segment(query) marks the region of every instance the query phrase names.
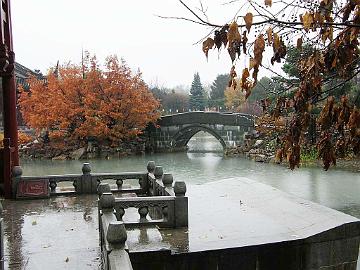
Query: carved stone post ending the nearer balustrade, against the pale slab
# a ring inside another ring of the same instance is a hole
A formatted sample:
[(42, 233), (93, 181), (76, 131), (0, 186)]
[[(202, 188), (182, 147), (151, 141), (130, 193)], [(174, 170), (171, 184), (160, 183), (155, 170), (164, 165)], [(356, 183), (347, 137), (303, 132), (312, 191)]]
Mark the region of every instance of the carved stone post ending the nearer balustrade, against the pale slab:
[(176, 181), (175, 192), (175, 227), (187, 227), (188, 221), (188, 198), (185, 197), (186, 184), (183, 181)]

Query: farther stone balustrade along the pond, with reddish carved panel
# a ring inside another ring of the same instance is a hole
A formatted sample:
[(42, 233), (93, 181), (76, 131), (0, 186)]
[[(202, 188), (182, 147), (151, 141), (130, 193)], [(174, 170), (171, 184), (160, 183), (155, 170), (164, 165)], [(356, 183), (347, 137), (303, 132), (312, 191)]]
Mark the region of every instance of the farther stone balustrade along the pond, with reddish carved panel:
[[(150, 161), (147, 172), (122, 172), (122, 173), (91, 173), (89, 163), (82, 166), (82, 174), (23, 176), (22, 169), (15, 166), (12, 171), (13, 192), (16, 198), (49, 197), (67, 194), (96, 194), (100, 183), (109, 183), (112, 193), (135, 193), (137, 196), (179, 196), (186, 192), (185, 184), (175, 183), (173, 176), (164, 173), (161, 166), (156, 166)], [(138, 186), (132, 186), (133, 181), (138, 181)], [(124, 184), (128, 181), (129, 184)], [(59, 183), (63, 184), (59, 188)], [(175, 192), (175, 187), (176, 192)], [(185, 188), (185, 190), (183, 190)]]

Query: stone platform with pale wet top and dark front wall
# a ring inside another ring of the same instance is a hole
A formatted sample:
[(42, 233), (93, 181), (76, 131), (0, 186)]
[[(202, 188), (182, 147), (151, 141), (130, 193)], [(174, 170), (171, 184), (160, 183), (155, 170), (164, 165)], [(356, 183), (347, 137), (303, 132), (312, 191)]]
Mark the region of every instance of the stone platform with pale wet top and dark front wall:
[(246, 178), (187, 195), (188, 229), (128, 232), (134, 269), (356, 269), (352, 216)]

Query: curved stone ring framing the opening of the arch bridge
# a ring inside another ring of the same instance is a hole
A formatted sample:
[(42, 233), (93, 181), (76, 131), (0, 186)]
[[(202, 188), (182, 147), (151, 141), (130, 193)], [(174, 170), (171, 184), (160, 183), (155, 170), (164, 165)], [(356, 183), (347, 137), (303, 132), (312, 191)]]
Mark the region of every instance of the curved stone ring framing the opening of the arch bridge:
[(187, 126), (180, 131), (178, 131), (177, 134), (173, 137), (171, 141), (171, 146), (175, 148), (185, 148), (190, 140), (196, 135), (196, 134), (209, 134), (212, 137), (214, 137), (219, 144), (222, 146), (222, 149), (226, 149), (226, 143), (224, 139), (213, 129), (208, 128), (206, 126), (201, 125), (192, 125)]

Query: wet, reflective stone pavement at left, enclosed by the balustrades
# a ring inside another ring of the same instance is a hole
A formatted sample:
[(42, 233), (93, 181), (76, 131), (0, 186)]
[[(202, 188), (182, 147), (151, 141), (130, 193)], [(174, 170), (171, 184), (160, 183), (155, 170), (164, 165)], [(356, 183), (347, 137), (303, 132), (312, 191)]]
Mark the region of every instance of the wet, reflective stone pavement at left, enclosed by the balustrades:
[(96, 200), (3, 201), (5, 269), (101, 269)]

